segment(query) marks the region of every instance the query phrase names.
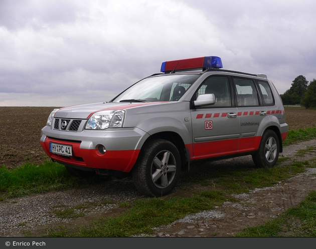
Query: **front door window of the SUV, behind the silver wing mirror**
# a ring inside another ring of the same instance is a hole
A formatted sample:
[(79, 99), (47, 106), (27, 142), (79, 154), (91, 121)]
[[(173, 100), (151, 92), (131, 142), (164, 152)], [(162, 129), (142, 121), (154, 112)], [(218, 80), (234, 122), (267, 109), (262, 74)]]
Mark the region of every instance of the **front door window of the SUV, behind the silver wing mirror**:
[(201, 94), (215, 95), (216, 103), (210, 107), (231, 106), (231, 97), (228, 78), (224, 76), (215, 76), (206, 79), (200, 86), (197, 96)]

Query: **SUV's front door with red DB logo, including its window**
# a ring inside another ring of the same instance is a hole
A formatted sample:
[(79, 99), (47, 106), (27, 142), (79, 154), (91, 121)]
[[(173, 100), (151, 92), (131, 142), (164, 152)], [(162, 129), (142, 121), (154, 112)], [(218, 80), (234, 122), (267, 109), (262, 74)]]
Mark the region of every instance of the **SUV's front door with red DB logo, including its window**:
[(233, 90), (226, 76), (210, 76), (198, 89), (213, 93), (214, 105), (191, 110), (194, 159), (235, 154), (238, 151), (238, 109), (232, 101)]

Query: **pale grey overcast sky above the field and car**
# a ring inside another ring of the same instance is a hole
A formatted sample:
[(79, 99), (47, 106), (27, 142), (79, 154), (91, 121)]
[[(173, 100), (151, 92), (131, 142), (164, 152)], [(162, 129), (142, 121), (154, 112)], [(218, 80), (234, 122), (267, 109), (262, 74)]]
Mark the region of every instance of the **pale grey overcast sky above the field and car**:
[(108, 101), (203, 56), (282, 94), (316, 78), (315, 13), (314, 0), (0, 0), (0, 106)]

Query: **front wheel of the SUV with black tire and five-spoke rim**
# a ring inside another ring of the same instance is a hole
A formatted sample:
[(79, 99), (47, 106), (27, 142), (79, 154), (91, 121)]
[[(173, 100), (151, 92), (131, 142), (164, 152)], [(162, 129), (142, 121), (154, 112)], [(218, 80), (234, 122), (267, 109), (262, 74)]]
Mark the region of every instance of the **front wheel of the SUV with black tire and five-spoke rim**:
[(133, 168), (137, 190), (148, 196), (163, 196), (176, 186), (181, 171), (177, 147), (165, 139), (151, 140), (144, 145)]

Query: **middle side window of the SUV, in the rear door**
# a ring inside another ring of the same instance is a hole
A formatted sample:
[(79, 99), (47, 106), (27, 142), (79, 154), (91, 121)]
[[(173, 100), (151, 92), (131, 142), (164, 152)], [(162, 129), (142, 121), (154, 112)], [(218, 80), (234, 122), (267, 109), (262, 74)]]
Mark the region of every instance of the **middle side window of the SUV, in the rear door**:
[(252, 80), (234, 78), (234, 84), (238, 106), (259, 105), (257, 90)]

